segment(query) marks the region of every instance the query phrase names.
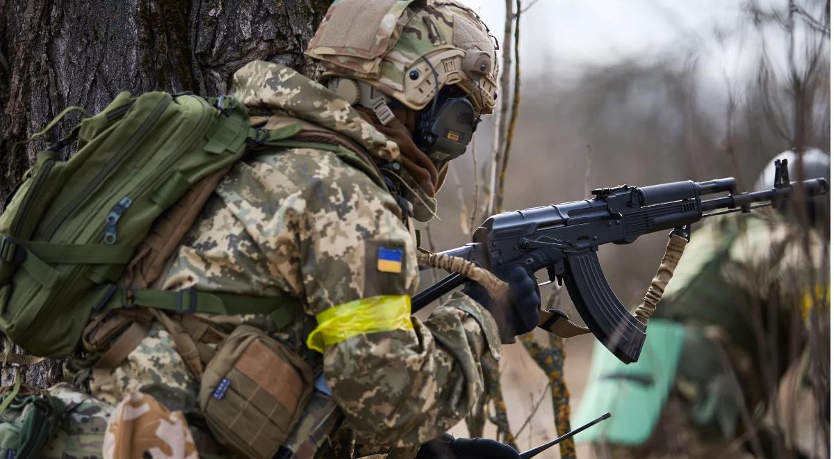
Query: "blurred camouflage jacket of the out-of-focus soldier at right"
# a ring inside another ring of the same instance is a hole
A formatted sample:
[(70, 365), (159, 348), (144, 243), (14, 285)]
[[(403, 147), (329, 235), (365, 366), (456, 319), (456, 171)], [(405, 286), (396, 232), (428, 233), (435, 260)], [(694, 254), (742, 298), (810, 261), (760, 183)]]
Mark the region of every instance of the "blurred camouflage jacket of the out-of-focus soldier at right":
[(655, 316), (691, 325), (677, 386), (702, 426), (731, 435), (739, 419), (725, 361), (752, 410), (820, 333), (828, 260), (821, 235), (776, 211), (711, 220), (695, 232)]

